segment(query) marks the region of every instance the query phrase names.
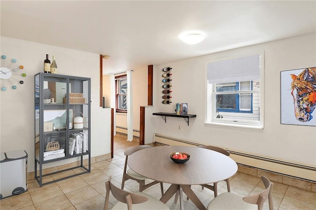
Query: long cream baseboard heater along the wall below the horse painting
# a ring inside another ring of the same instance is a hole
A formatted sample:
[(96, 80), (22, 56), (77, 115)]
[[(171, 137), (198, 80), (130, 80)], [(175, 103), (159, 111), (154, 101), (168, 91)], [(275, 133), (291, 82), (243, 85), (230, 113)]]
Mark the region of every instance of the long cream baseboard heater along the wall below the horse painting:
[[(175, 139), (171, 137), (162, 136), (159, 134), (154, 135), (153, 142), (162, 143), (165, 145), (187, 145), (198, 146), (201, 145), (196, 142), (190, 142), (186, 140)], [(236, 161), (236, 163), (249, 166), (268, 172), (276, 173), (279, 175), (287, 175), (295, 178), (316, 182), (316, 168), (311, 166), (305, 166), (295, 163), (290, 163), (281, 160), (275, 160), (267, 157), (260, 157), (252, 154), (246, 154), (238, 151), (227, 149), (231, 155), (230, 157)]]

